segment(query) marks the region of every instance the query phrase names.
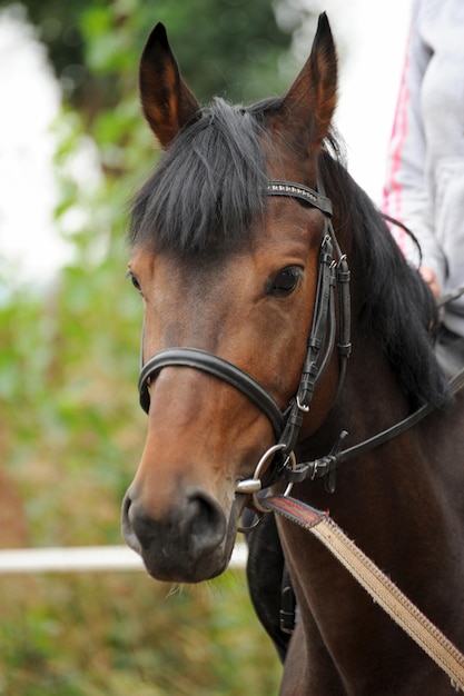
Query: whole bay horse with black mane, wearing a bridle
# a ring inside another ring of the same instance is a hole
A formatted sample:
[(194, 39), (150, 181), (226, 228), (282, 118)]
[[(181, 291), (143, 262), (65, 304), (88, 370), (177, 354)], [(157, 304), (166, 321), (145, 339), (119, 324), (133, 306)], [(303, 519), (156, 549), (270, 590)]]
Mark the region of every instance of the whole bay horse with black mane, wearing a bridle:
[[(227, 568), (253, 485), (283, 491), (282, 473), (339, 448), (340, 432), (356, 445), (427, 404), (417, 425), (362, 450), (336, 479), (297, 483), (293, 496), (329, 508), (464, 648), (463, 398), (435, 358), (427, 287), (343, 162), (326, 16), (284, 97), (200, 108), (161, 24), (139, 79), (165, 152), (129, 232), (148, 436), (122, 504), (127, 543), (155, 578), (213, 578)], [(298, 612), (280, 645), (282, 694), (452, 690), (317, 539), (268, 515), (251, 533), (248, 573), (261, 617), (284, 558)]]

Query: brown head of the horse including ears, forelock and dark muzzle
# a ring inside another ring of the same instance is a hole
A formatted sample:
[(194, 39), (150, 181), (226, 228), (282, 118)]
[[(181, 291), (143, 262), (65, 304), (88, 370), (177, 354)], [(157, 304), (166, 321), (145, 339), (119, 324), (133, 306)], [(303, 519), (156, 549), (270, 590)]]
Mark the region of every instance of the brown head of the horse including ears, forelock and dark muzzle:
[[(300, 384), (327, 217), (269, 191), (269, 180), (314, 193), (336, 72), (325, 14), (286, 96), (248, 108), (200, 109), (161, 24), (144, 50), (142, 109), (165, 152), (132, 215), (148, 436), (122, 528), (158, 579), (199, 581), (227, 567), (237, 488), (282, 435), (279, 414)], [(327, 362), (302, 410), (305, 435), (335, 398), (338, 361)]]

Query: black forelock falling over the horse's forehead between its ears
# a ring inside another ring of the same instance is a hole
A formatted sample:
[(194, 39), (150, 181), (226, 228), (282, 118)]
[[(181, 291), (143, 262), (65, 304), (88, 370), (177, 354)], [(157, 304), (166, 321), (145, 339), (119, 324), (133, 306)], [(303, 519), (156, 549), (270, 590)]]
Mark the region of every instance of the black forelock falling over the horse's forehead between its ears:
[(195, 253), (236, 248), (266, 205), (259, 119), (215, 99), (168, 150), (132, 206), (129, 241)]

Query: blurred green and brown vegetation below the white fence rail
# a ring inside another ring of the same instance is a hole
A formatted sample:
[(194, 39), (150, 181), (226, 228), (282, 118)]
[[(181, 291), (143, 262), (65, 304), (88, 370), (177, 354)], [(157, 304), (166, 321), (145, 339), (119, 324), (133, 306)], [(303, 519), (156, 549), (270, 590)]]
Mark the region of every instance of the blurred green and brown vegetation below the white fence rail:
[(272, 696), (282, 668), (243, 574), (1, 578), (1, 696)]

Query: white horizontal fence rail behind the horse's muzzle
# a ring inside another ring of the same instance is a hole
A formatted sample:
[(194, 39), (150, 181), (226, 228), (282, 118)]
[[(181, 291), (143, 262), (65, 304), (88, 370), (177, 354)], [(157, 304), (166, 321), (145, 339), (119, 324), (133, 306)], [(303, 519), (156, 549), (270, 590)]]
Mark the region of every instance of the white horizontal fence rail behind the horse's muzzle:
[[(245, 544), (238, 544), (229, 568), (244, 568)], [(127, 546), (75, 546), (0, 550), (0, 575), (145, 570), (140, 556)]]

